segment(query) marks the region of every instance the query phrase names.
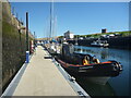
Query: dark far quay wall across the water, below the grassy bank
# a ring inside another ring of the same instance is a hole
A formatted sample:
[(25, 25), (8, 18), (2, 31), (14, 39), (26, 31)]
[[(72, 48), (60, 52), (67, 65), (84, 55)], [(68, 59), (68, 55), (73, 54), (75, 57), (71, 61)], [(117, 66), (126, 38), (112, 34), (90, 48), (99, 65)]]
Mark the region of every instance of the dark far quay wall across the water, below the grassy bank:
[[(97, 38), (78, 40), (78, 44), (79, 46), (91, 47), (91, 42), (93, 42), (94, 40), (97, 40)], [(102, 38), (102, 40), (107, 40), (109, 44), (109, 48), (131, 49), (131, 36), (116, 37), (116, 38)], [(70, 44), (75, 44), (75, 40), (68, 40), (68, 41)]]

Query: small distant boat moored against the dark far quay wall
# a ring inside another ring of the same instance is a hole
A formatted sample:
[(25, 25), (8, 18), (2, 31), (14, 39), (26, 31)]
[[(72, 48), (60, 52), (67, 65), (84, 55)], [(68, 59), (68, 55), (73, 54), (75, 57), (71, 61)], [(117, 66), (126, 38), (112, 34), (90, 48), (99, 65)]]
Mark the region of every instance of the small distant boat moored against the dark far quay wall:
[(107, 42), (107, 40), (95, 40), (93, 42), (91, 42), (91, 46), (94, 46), (94, 47), (108, 47), (109, 44)]

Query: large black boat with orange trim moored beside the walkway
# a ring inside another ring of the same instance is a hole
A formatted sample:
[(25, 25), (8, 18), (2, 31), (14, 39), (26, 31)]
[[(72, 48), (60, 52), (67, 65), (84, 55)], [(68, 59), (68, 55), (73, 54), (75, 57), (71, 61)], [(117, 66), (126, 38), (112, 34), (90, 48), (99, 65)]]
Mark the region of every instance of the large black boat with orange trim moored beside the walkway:
[[(83, 64), (84, 57), (88, 57), (88, 64)], [(117, 61), (93, 62), (91, 54), (75, 53), (73, 45), (64, 44), (61, 53), (56, 60), (63, 69), (73, 76), (83, 76), (87, 79), (106, 84), (110, 77), (118, 76), (122, 71), (122, 65)]]

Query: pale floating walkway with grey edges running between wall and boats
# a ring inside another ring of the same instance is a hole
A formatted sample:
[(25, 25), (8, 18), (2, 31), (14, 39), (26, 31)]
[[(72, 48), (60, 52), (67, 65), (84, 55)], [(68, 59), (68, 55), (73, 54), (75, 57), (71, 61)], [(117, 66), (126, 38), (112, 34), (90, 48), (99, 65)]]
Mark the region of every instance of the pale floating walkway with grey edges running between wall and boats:
[[(73, 89), (56, 68), (48, 52), (38, 46), (29, 63), (23, 65), (3, 96), (79, 96), (82, 94)], [(84, 96), (88, 95), (85, 93)]]

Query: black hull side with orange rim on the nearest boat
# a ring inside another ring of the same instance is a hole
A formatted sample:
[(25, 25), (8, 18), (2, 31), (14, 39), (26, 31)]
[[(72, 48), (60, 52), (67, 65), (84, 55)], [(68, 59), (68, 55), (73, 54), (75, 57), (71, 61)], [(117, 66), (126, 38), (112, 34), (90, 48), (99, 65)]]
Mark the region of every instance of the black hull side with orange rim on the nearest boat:
[(120, 66), (115, 63), (104, 62), (99, 64), (90, 64), (90, 65), (74, 65), (66, 63), (62, 60), (58, 60), (58, 62), (71, 74), (75, 76), (100, 76), (100, 77), (114, 77), (120, 74)]

